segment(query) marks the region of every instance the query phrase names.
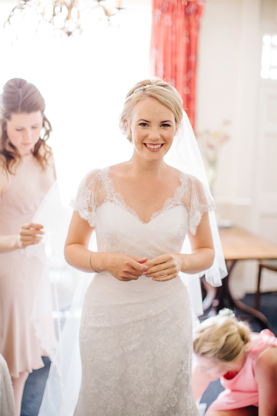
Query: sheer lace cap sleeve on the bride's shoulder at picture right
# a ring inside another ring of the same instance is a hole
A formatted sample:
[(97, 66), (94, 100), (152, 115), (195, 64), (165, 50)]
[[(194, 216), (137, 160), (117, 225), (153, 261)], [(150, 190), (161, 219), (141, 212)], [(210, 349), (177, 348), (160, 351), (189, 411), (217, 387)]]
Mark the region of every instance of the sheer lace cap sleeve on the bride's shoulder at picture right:
[(197, 178), (185, 175), (184, 188), (186, 192), (186, 207), (189, 212), (189, 231), (192, 235), (196, 234), (197, 227), (204, 212), (216, 210), (213, 197), (210, 192)]

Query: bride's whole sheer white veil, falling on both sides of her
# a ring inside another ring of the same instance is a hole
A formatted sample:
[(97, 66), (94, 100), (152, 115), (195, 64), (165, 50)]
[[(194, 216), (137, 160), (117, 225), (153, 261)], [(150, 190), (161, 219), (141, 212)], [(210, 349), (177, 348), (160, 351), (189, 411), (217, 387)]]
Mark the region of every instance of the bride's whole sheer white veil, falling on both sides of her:
[[(198, 178), (211, 197), (199, 148), (185, 112), (165, 161), (180, 171)], [(64, 260), (64, 243), (71, 213), (69, 208), (64, 208), (62, 205), (59, 187), (55, 183), (33, 220), (44, 224), (45, 237), (42, 244), (45, 247), (47, 261), (41, 276), (40, 290), (34, 302), (32, 322), (37, 336), (42, 340), (44, 349), (49, 351), (52, 361), (39, 416), (72, 416), (81, 386), (78, 332), (83, 297), (93, 274), (80, 272)], [(181, 273), (181, 278), (189, 289), (191, 306), (196, 316), (203, 314), (199, 277), (205, 274), (208, 283), (220, 286), (221, 278), (227, 275), (214, 211), (209, 212), (209, 220), (215, 248), (213, 265), (208, 270), (195, 275)], [(92, 235), (90, 248), (92, 251), (97, 251), (95, 233)], [(186, 238), (182, 253), (190, 253), (190, 251), (190, 243)], [(41, 250), (37, 250), (35, 246), (28, 251), (29, 256), (39, 256), (39, 253)], [(43, 295), (50, 292), (51, 299)], [(48, 345), (47, 328), (44, 325), (49, 315), (55, 322), (57, 337), (55, 349), (52, 344)]]

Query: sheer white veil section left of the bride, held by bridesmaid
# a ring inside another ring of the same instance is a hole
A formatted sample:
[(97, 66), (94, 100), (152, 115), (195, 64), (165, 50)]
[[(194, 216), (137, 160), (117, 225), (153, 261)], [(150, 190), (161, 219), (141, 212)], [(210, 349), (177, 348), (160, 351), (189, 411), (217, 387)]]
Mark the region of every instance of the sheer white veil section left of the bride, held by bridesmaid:
[[(27, 248), (28, 257), (46, 253), (39, 290), (34, 301), (31, 321), (37, 337), (49, 353), (51, 367), (39, 415), (72, 415), (81, 386), (81, 358), (78, 332), (83, 297), (93, 275), (69, 266), (64, 259), (72, 210), (60, 199), (57, 181), (42, 201), (33, 221), (44, 225), (45, 235), (39, 246)], [(95, 236), (90, 248), (97, 251)], [(52, 317), (56, 330), (56, 348), (50, 341), (45, 322)]]

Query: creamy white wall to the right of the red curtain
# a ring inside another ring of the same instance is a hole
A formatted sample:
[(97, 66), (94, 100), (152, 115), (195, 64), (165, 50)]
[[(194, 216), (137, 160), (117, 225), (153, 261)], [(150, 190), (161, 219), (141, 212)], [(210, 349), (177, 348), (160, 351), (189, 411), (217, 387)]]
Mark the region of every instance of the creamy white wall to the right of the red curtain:
[[(232, 122), (231, 139), (219, 156), (218, 216), (231, 218), (235, 225), (277, 244), (274, 218), (267, 218), (265, 224), (254, 215), (259, 198), (255, 172), (260, 163), (262, 33), (265, 27), (276, 27), (276, 4), (276, 0), (206, 0), (199, 42), (196, 131), (216, 130), (224, 120)], [(232, 278), (236, 295), (254, 291), (256, 275), (256, 262), (236, 265)], [(267, 277), (263, 290), (277, 290), (276, 276)]]

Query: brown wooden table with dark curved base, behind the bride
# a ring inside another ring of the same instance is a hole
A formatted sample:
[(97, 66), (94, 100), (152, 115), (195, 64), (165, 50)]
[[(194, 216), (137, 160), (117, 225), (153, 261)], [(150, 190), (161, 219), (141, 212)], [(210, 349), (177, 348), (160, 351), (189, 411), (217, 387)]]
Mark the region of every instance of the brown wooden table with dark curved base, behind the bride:
[(261, 312), (245, 305), (243, 302), (232, 296), (229, 289), (229, 279), (233, 267), (238, 260), (276, 259), (277, 245), (236, 227), (220, 228), (219, 235), (226, 260), (228, 275), (222, 280), (221, 287), (210, 288), (210, 291), (212, 292), (210, 294), (207, 285), (204, 283), (204, 286), (208, 289), (207, 300), (209, 299), (209, 302), (205, 303), (205, 300), (203, 301), (204, 310), (207, 310), (211, 305), (216, 309), (216, 312), (223, 307), (233, 308), (234, 306), (237, 306), (240, 310), (256, 317), (262, 328), (268, 328), (269, 323)]

